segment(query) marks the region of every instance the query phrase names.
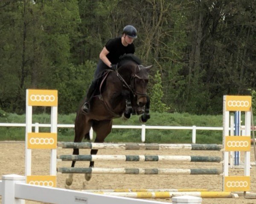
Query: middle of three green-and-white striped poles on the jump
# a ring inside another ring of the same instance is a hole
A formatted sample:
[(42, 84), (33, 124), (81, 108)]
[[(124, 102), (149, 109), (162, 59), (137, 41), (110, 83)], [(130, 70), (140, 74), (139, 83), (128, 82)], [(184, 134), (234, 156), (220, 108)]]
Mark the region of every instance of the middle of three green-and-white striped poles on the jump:
[(62, 161), (189, 161), (221, 162), (218, 156), (158, 156), (158, 155), (61, 155)]

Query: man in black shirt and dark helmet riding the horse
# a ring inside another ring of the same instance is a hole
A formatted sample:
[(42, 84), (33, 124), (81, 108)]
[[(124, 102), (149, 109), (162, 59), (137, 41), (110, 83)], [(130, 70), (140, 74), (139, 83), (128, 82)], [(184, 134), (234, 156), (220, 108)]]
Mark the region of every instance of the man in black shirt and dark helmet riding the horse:
[(123, 54), (134, 54), (135, 47), (133, 44), (134, 39), (137, 38), (137, 30), (134, 26), (125, 26), (121, 37), (110, 39), (105, 47), (99, 54), (99, 62), (97, 64), (96, 71), (94, 73), (93, 82), (87, 92), (87, 99), (82, 106), (82, 111), (88, 113), (90, 111), (90, 100), (97, 88), (98, 79), (106, 69), (116, 69), (116, 64), (119, 61), (119, 57)]

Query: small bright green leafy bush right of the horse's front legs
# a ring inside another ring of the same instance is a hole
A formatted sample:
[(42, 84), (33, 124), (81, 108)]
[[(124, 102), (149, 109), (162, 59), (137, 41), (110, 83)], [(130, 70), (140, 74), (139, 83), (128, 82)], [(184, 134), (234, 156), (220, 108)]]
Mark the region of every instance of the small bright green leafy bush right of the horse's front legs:
[(161, 84), (162, 79), (159, 71), (157, 71), (157, 74), (154, 75), (154, 81), (155, 84), (153, 85), (150, 97), (151, 111), (163, 113), (170, 108), (166, 107), (166, 104), (161, 101), (163, 98), (163, 86)]

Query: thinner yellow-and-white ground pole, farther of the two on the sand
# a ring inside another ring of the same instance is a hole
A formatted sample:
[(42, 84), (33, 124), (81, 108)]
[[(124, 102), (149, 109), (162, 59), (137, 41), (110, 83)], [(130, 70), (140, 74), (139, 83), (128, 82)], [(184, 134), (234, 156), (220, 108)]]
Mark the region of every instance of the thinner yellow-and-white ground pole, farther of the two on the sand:
[(111, 192), (195, 192), (195, 191), (208, 191), (208, 189), (95, 189), (95, 190), (82, 190), (88, 193), (111, 193)]

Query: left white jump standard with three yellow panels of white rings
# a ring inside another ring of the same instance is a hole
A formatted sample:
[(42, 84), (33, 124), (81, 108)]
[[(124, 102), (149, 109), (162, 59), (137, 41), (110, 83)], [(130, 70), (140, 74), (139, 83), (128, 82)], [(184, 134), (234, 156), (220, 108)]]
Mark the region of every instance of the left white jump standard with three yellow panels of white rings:
[[(32, 107), (51, 107), (50, 133), (32, 133)], [(26, 165), (25, 176), (28, 184), (42, 184), (56, 187), (56, 157), (57, 157), (57, 116), (58, 116), (58, 91), (57, 90), (26, 90)], [(50, 176), (31, 175), (32, 149), (50, 149)]]

